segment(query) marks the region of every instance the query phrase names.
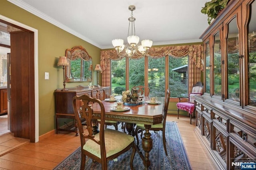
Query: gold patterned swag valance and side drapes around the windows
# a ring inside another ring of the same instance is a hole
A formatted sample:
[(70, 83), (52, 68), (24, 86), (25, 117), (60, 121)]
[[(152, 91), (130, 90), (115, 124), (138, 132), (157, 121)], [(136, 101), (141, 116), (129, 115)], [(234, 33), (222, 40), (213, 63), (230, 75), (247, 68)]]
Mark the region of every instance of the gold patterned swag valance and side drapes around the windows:
[[(201, 59), (203, 58), (203, 46), (198, 45), (180, 45), (180, 46), (166, 46), (166, 47), (151, 47), (146, 54), (152, 58), (160, 58), (166, 55), (174, 57), (189, 57), (189, 77), (190, 83), (188, 90), (192, 90), (192, 86), (201, 80), (200, 71), (203, 71)], [(123, 58), (123, 57), (122, 57)], [(115, 49), (103, 50), (100, 52), (100, 67), (102, 68), (102, 86), (110, 86), (110, 59), (120, 60)], [(138, 56), (134, 56), (134, 59)]]

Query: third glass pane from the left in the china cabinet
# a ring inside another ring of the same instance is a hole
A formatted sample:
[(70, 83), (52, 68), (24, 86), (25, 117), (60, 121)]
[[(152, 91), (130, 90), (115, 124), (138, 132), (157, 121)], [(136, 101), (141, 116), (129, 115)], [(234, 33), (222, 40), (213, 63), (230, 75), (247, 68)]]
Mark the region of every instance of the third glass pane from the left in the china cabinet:
[(239, 33), (236, 17), (228, 24), (227, 38), (227, 71), (228, 71), (228, 99), (240, 101), (240, 71), (239, 71)]

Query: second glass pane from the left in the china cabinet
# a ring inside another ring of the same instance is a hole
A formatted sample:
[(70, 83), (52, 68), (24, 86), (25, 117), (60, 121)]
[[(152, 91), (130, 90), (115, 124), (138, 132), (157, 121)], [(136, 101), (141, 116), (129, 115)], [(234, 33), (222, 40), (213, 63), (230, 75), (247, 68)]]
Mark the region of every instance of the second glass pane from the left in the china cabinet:
[(214, 66), (214, 94), (216, 96), (221, 96), (221, 45), (220, 45), (220, 32), (214, 35), (214, 56), (213, 56), (213, 66)]

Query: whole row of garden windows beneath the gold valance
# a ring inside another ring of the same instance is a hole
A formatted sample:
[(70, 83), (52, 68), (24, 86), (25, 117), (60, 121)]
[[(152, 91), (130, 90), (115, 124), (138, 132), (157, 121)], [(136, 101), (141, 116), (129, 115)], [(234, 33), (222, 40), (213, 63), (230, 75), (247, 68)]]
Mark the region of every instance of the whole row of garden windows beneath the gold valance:
[[(140, 59), (124, 57), (119, 61), (111, 60), (112, 94), (120, 95), (126, 87), (130, 90), (134, 86), (145, 85), (150, 89), (150, 97), (164, 97), (166, 86), (172, 89), (171, 97), (188, 97), (188, 58), (188, 56)], [(126, 64), (127, 61), (129, 64)], [(126, 65), (129, 65), (129, 68)], [(126, 71), (129, 71), (129, 74)], [(166, 75), (167, 71), (168, 75)], [(126, 80), (127, 76), (129, 80)], [(129, 86), (126, 82), (129, 82)]]

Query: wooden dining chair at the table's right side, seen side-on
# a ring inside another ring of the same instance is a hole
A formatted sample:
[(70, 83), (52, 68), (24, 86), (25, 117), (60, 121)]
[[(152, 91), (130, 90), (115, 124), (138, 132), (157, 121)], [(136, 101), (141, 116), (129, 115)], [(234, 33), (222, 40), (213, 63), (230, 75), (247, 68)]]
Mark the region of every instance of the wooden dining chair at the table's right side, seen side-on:
[[(163, 104), (163, 109), (162, 109), (163, 120), (162, 120), (161, 123), (158, 123), (156, 125), (152, 125), (150, 127), (150, 130), (154, 130), (154, 131), (162, 130), (164, 152), (165, 152), (166, 156), (168, 154), (167, 154), (167, 149), (166, 149), (165, 123), (166, 123), (166, 116), (167, 116), (169, 101), (170, 101), (170, 91), (169, 91), (169, 89), (167, 89), (166, 97), (164, 99), (164, 104)], [(141, 132), (141, 137), (142, 137), (143, 130), (145, 130), (144, 124), (137, 123), (136, 124), (136, 129), (135, 129), (135, 136), (136, 136), (136, 139), (137, 139), (137, 145), (139, 144), (138, 133)]]

